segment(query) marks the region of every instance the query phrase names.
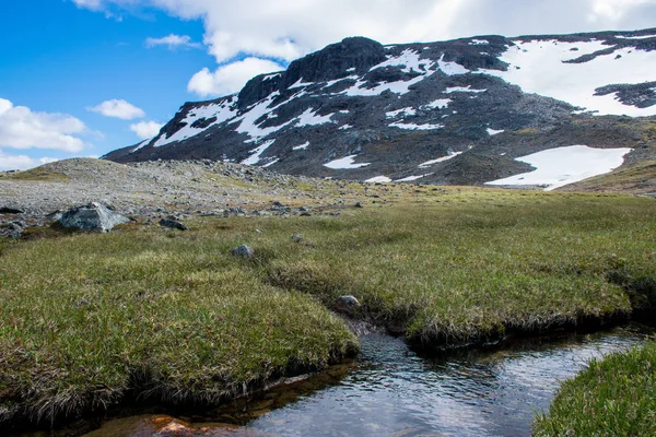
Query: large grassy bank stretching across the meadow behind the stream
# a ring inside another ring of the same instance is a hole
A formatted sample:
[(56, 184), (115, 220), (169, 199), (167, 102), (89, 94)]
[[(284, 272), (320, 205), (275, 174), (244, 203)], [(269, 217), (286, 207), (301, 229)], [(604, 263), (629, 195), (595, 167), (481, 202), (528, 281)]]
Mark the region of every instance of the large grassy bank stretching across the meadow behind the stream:
[[(646, 305), (633, 294), (656, 277), (651, 199), (379, 192), (339, 217), (208, 217), (186, 233), (139, 225), (9, 245), (0, 421), (128, 394), (216, 402), (321, 368), (356, 347), (328, 310), (343, 294), (362, 303), (355, 317), (426, 345)], [(229, 255), (241, 244), (255, 260)]]

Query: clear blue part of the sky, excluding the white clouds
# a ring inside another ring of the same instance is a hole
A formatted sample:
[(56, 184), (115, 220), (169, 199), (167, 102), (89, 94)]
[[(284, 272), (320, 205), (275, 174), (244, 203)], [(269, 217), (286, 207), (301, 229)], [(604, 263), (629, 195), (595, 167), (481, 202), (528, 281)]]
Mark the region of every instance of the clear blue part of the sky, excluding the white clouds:
[[(0, 98), (32, 111), (71, 115), (87, 128), (80, 135), (86, 143), (81, 152), (44, 153), (33, 147), (20, 154), (34, 158), (102, 155), (140, 141), (130, 130), (132, 123), (165, 122), (184, 102), (198, 99), (187, 91), (187, 82), (215, 61), (202, 47), (147, 47), (147, 38), (169, 34), (188, 35), (200, 43), (202, 23), (155, 10), (107, 17), (61, 0), (3, 4)], [(87, 109), (109, 99), (125, 99), (145, 116), (124, 120)], [(7, 147), (0, 149), (8, 154)]]

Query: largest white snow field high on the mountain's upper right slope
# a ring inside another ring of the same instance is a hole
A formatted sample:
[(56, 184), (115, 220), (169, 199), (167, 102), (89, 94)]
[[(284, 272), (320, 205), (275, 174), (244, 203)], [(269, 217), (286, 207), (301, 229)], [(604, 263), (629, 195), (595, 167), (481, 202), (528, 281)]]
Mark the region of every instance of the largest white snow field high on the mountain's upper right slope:
[[(624, 105), (616, 94), (596, 96), (595, 90), (614, 83), (656, 81), (656, 50), (634, 47), (618, 48), (612, 54), (582, 62), (565, 62), (573, 58), (608, 49), (600, 40), (562, 43), (558, 40), (514, 42), (515, 46), (500, 57), (509, 64), (507, 71), (479, 70), (477, 73), (501, 78), (518, 85), (525, 93), (540, 94), (573, 106), (596, 110), (596, 115), (656, 115), (656, 105), (647, 108)], [(576, 51), (572, 49), (576, 48)], [(618, 57), (619, 56), (619, 57)]]

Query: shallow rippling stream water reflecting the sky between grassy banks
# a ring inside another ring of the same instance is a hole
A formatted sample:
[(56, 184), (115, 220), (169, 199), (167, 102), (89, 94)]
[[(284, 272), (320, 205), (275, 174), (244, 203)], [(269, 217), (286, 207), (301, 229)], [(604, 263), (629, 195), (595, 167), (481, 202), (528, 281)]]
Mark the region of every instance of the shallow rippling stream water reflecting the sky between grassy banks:
[(387, 335), (365, 335), (351, 366), (215, 412), (214, 422), (229, 417), (244, 426), (227, 432), (195, 420), (186, 429), (233, 436), (528, 436), (535, 412), (548, 409), (559, 381), (646, 333), (629, 326), (443, 358), (420, 357)]

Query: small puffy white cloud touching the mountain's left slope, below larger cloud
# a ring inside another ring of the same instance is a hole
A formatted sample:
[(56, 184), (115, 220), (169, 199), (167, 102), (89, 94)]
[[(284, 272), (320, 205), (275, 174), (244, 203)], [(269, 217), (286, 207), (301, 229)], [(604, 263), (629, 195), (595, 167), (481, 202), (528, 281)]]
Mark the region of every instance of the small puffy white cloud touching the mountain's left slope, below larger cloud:
[(194, 74), (187, 90), (201, 97), (232, 94), (239, 91), (255, 75), (281, 70), (284, 70), (284, 67), (273, 61), (246, 58), (220, 67), (214, 72), (203, 68)]

